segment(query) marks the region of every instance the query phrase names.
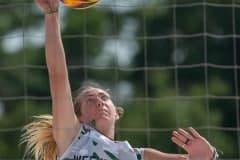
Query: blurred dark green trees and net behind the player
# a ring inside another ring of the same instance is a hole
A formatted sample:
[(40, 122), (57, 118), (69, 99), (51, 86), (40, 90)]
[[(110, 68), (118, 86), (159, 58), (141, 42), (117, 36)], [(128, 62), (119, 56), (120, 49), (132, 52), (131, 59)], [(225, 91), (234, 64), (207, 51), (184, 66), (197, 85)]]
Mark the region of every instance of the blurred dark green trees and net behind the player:
[[(240, 0), (100, 0), (60, 12), (72, 91), (110, 89), (125, 109), (116, 139), (184, 153), (171, 132), (192, 126), (221, 159), (240, 159)], [(0, 0), (0, 159), (21, 159), (21, 128), (50, 113), (44, 16), (33, 0)]]

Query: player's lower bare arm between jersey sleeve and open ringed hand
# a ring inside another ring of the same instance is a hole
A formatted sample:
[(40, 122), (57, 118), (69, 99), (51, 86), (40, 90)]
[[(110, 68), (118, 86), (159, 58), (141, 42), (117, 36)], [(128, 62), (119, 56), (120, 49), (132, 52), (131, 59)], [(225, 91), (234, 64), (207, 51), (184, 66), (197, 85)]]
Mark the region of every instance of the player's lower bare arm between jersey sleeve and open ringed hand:
[(163, 153), (152, 148), (144, 148), (144, 160), (187, 160), (186, 154)]

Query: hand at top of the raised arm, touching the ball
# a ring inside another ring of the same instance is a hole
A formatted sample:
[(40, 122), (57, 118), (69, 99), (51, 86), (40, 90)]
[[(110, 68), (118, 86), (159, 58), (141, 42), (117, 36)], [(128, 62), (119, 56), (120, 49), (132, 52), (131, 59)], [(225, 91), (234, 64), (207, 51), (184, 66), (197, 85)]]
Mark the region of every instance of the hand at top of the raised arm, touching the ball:
[(35, 0), (35, 2), (45, 14), (50, 14), (58, 11), (59, 0)]

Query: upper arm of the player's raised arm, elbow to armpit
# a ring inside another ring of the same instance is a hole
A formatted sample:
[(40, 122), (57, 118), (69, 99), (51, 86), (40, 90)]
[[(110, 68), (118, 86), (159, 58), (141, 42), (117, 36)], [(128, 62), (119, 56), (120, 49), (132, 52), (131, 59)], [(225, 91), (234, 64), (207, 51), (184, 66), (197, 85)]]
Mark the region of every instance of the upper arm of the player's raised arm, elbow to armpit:
[(53, 135), (61, 155), (76, 136), (80, 123), (75, 115), (68, 78), (49, 75), (52, 95)]

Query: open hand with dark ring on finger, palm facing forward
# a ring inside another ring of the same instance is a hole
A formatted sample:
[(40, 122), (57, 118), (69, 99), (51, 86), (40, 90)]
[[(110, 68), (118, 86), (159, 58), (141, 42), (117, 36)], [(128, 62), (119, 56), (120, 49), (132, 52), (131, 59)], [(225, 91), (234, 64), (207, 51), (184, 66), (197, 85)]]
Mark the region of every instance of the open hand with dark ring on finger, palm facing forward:
[(213, 157), (214, 148), (192, 127), (189, 131), (173, 131), (171, 139), (189, 154), (191, 160), (211, 160)]

